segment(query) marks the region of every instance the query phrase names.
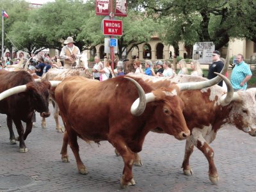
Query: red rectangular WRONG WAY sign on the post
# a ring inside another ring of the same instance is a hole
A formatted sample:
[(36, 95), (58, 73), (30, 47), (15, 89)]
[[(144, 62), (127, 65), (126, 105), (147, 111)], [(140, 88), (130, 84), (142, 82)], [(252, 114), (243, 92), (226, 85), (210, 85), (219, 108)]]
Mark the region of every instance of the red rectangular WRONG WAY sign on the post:
[(122, 20), (103, 20), (104, 35), (123, 35)]

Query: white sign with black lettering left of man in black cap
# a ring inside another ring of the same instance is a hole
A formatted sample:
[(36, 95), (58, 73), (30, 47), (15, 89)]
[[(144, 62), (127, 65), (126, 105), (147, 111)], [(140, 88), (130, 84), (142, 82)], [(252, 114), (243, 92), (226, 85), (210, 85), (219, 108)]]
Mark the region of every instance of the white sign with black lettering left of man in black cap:
[(213, 42), (196, 42), (193, 46), (193, 60), (198, 60), (200, 64), (211, 64), (214, 50)]

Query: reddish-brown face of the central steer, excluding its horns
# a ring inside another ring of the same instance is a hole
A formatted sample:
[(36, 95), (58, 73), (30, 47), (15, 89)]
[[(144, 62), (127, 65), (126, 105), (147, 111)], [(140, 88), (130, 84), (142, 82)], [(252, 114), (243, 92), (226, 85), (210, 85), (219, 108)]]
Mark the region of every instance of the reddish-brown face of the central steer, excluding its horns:
[(178, 140), (188, 138), (190, 131), (182, 114), (184, 103), (177, 96), (177, 90), (161, 88), (152, 93), (156, 97), (154, 116), (157, 118), (158, 127)]

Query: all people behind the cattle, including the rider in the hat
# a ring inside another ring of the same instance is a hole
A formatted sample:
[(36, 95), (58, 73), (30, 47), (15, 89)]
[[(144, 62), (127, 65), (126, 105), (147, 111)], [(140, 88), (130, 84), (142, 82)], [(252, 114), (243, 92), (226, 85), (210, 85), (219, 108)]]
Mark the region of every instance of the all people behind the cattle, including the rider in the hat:
[[(52, 57), (50, 58), (49, 54), (45, 54), (44, 56), (35, 56), (29, 60), (28, 71), (31, 74), (36, 74), (37, 76), (42, 76), (45, 74), (50, 68), (54, 67), (64, 67), (71, 68), (74, 66), (76, 59), (81, 56), (81, 53), (74, 45), (74, 40), (72, 37), (68, 37), (67, 40), (64, 41), (65, 46), (61, 50), (60, 57)], [(26, 59), (24, 59), (26, 61)], [(138, 57), (135, 60), (123, 60), (119, 61), (119, 58), (115, 58), (116, 68), (112, 70), (111, 63), (106, 56), (104, 61), (100, 61), (99, 56), (95, 56), (94, 58), (95, 64), (92, 68), (93, 79), (97, 79), (99, 81), (105, 81), (106, 79), (123, 76), (128, 74), (129, 72), (134, 72), (136, 74), (146, 74), (148, 76), (160, 76), (160, 77), (174, 77), (176, 75), (175, 68), (173, 64), (170, 63), (169, 60), (158, 60), (155, 63), (152, 63), (150, 60), (145, 60), (145, 63), (141, 63)], [(0, 69), (11, 66), (13, 64), (17, 64), (20, 62), (20, 58), (16, 61), (10, 60), (10, 58), (1, 58), (0, 60)], [(209, 72), (207, 79), (212, 79), (217, 75), (214, 72), (220, 73), (224, 66), (224, 59), (220, 57), (219, 51), (212, 52), (212, 64), (209, 65)], [(143, 66), (144, 65), (144, 66)], [(200, 63), (198, 60), (192, 60), (190, 63), (190, 70), (187, 66), (187, 62), (185, 60), (180, 60), (178, 63), (179, 72), (178, 75), (191, 75), (191, 76), (204, 76), (203, 70), (200, 67)], [(144, 69), (145, 68), (145, 69)], [(156, 68), (156, 70), (154, 70)], [(228, 74), (226, 74), (228, 77)], [(237, 90), (246, 90), (247, 82), (252, 77), (252, 72), (248, 65), (244, 63), (243, 54), (237, 54), (236, 56), (236, 65), (232, 70), (232, 74), (230, 76), (230, 82), (235, 91)], [(225, 86), (225, 83), (221, 81), (218, 83), (219, 86)]]

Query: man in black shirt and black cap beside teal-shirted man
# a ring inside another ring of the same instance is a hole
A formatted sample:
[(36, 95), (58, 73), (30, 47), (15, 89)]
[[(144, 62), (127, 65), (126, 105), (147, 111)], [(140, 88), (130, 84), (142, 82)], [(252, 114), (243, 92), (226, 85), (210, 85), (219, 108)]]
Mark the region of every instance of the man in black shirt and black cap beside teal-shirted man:
[[(224, 67), (224, 63), (220, 60), (220, 52), (219, 51), (212, 52), (212, 61), (213, 61), (213, 63), (209, 67), (207, 79), (213, 79), (214, 77), (216, 77), (217, 75), (214, 74), (214, 72), (220, 73), (222, 68)], [(220, 83), (218, 83), (218, 85), (222, 86), (223, 81), (220, 81)]]

